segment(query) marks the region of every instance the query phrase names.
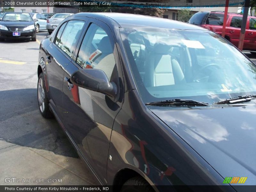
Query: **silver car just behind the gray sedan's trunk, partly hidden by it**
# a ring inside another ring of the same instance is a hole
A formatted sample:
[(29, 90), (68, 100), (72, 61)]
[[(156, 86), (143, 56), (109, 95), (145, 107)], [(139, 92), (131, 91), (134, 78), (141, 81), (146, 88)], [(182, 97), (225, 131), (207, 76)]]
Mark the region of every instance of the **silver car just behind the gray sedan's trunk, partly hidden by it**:
[(73, 13), (56, 13), (51, 18), (47, 19), (46, 29), (48, 30), (48, 33), (51, 34), (60, 22), (70, 15), (73, 15)]

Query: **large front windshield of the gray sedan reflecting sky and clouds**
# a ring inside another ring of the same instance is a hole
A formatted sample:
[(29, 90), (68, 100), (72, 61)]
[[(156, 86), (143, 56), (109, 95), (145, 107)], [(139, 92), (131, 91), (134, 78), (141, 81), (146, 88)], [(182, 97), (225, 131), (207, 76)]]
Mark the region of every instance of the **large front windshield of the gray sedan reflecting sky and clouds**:
[(256, 67), (206, 30), (120, 28), (142, 100), (206, 103), (256, 94)]

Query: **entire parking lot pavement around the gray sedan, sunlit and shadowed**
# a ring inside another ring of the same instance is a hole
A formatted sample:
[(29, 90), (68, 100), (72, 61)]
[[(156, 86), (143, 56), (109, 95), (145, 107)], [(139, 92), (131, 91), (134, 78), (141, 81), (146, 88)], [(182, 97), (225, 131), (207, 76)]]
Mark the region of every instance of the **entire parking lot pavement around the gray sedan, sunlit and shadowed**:
[[(57, 121), (42, 118), (38, 110), (38, 50), (46, 35), (37, 34), (36, 42), (0, 42), (0, 185), (97, 185)], [(256, 63), (256, 55), (244, 53)], [(62, 182), (18, 183), (6, 178)]]

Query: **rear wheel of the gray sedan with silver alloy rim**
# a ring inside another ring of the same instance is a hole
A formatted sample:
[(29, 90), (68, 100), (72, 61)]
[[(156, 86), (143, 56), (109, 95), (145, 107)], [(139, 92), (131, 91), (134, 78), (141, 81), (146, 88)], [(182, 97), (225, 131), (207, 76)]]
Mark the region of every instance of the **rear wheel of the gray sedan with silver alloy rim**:
[(40, 73), (37, 81), (37, 101), (41, 115), (48, 119), (52, 118), (53, 114), (50, 110), (49, 100), (45, 91), (44, 74)]

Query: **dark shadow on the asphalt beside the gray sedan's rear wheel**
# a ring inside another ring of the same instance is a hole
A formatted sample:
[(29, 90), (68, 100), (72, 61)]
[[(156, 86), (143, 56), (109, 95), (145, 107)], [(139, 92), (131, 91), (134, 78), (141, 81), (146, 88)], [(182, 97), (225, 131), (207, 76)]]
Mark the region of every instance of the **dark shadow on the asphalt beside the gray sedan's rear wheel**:
[(79, 158), (57, 121), (41, 116), (37, 89), (0, 91), (0, 139)]

